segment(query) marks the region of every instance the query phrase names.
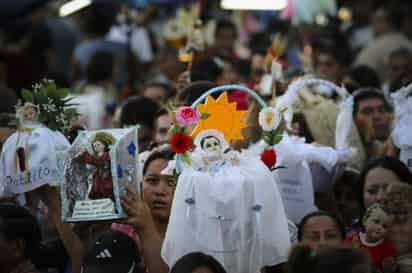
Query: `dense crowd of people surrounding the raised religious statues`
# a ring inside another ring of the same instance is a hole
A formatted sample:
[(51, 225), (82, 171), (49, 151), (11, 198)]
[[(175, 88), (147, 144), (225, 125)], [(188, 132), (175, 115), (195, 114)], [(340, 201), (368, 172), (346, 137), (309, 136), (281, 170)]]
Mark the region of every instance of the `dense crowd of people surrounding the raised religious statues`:
[[(137, 11), (117, 1), (92, 2), (67, 18), (56, 17), (53, 5), (35, 6), (0, 29), (0, 147), (17, 130), (20, 91), (53, 79), (70, 88), (81, 114), (66, 135), (70, 142), (84, 129), (139, 125), (138, 152), (146, 155), (141, 192), (129, 188), (122, 196), (125, 219), (78, 223), (62, 222), (56, 187), (0, 196), (0, 273), (226, 272), (206, 253), (187, 254), (170, 268), (161, 256), (178, 183), (163, 172), (175, 158), (167, 145), (171, 105), (191, 105), (229, 84), (274, 104), (302, 77), (344, 86), (353, 96), (356, 152), (331, 168), (308, 160), (304, 180), (313, 184), (316, 210), (291, 219), (297, 238), (291, 235), (288, 261), (262, 272), (412, 272), (412, 159), (401, 160), (393, 140), (391, 96), (412, 81), (411, 3), (338, 1), (350, 18), (324, 14), (322, 22), (295, 24), (278, 13), (223, 11), (219, 1)], [(167, 28), (190, 16), (202, 24), (178, 24), (176, 33)], [(179, 28), (202, 31), (204, 47), (190, 48), (189, 61), (183, 59), (191, 34), (182, 39)], [(282, 70), (269, 88), (268, 58)], [(322, 84), (302, 89), (285, 133), (334, 148), (338, 94)], [(247, 149), (262, 139), (257, 104), (240, 91), (230, 92), (229, 101), (249, 110), (245, 139), (231, 143), (233, 150)]]

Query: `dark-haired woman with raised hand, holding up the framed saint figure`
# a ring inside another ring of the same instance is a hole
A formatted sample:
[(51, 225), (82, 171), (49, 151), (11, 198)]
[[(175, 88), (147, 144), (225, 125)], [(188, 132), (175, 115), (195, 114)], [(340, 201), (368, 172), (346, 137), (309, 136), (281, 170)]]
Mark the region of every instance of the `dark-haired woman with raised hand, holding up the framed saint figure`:
[(122, 198), (123, 209), (128, 215), (125, 223), (139, 235), (149, 272), (168, 272), (161, 258), (161, 247), (176, 188), (173, 170), (168, 168), (173, 158), (174, 153), (169, 148), (154, 149), (143, 164), (142, 195), (129, 189)]

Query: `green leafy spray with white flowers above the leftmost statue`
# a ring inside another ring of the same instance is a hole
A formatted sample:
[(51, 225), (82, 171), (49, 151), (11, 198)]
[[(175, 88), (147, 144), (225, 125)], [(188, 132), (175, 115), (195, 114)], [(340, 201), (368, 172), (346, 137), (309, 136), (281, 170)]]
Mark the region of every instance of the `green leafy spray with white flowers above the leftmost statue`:
[(21, 95), (24, 103), (16, 105), (16, 116), (22, 126), (23, 111), (26, 107), (38, 110), (38, 121), (54, 131), (67, 133), (72, 129), (72, 122), (79, 113), (70, 104), (69, 89), (58, 88), (53, 80), (42, 80), (33, 86), (33, 90), (23, 89)]

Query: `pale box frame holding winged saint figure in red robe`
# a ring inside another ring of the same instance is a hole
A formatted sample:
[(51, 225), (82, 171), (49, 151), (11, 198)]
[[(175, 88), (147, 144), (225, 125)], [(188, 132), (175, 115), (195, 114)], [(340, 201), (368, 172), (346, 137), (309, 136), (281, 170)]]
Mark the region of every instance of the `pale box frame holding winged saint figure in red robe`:
[(59, 156), (64, 222), (123, 218), (120, 198), (139, 191), (137, 128), (83, 131)]

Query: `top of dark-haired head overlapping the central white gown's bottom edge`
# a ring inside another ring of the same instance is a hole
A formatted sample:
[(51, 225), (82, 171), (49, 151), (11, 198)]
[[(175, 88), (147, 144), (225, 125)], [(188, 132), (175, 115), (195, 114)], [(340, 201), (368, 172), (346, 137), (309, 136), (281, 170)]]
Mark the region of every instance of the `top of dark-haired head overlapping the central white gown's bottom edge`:
[(170, 273), (226, 273), (226, 270), (212, 256), (192, 252), (177, 260)]

